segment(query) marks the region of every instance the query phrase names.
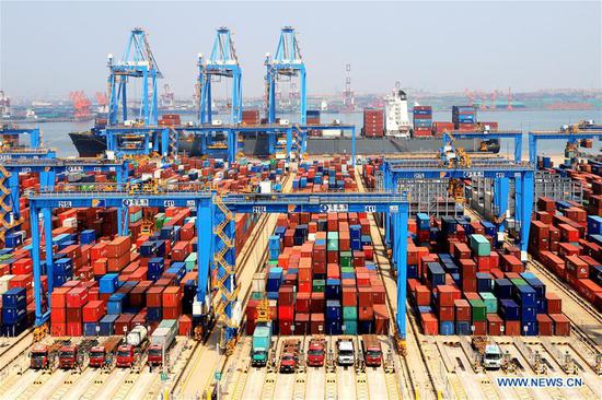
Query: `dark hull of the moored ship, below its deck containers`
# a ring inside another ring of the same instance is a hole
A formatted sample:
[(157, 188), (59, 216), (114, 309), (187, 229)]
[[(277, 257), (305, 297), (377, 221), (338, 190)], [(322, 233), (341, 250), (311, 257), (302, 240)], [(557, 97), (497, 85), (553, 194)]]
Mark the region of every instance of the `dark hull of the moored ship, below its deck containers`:
[[(69, 133), (78, 153), (82, 157), (94, 157), (106, 150), (103, 138), (93, 132), (72, 132)], [(456, 148), (464, 148), (468, 152), (478, 152), (484, 149), (481, 146), (481, 140), (460, 139), (454, 141)], [(397, 154), (397, 153), (421, 153), (437, 152), (442, 145), (440, 138), (379, 138), (379, 139), (356, 139), (356, 154), (377, 155), (377, 154)], [(244, 140), (243, 152), (247, 155), (265, 156), (269, 155), (267, 136), (259, 134), (256, 138)], [(200, 154), (200, 139), (188, 138), (178, 142), (178, 151), (190, 156)], [(352, 143), (350, 138), (309, 138), (306, 151), (309, 154), (351, 154)], [(490, 153), (499, 152), (499, 141), (490, 140), (487, 142), (487, 150)]]

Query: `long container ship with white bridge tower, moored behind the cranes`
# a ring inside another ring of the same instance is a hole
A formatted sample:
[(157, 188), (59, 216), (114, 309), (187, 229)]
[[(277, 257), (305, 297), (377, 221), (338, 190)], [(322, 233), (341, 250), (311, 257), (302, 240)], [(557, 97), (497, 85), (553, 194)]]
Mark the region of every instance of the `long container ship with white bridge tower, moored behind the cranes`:
[[(473, 106), (453, 106), (452, 121), (433, 121), (432, 107), (416, 104), (413, 108), (413, 121), (408, 117), (406, 93), (396, 87), (385, 97), (384, 108), (366, 108), (360, 137), (356, 138), (357, 154), (394, 154), (410, 152), (432, 152), (441, 148), (444, 131), (487, 131), (497, 130), (497, 122), (479, 122)], [(80, 156), (96, 156), (106, 150), (106, 143), (100, 131), (106, 125), (106, 118), (97, 118), (94, 128), (88, 132), (71, 132), (69, 136)], [(258, 109), (243, 111), (243, 125), (261, 125)], [(338, 121), (335, 121), (335, 123)], [(180, 125), (178, 115), (163, 115), (160, 125)], [(319, 125), (320, 111), (308, 111), (308, 125)], [(309, 154), (340, 154), (351, 152), (351, 138), (344, 137), (341, 130), (310, 130)], [(219, 140), (219, 138), (218, 138)], [(224, 139), (225, 140), (225, 139)], [(464, 139), (456, 145), (468, 152), (499, 152), (499, 140)], [(189, 134), (181, 137), (178, 149), (192, 156), (200, 154), (200, 138)], [(268, 155), (267, 136), (244, 138), (243, 152), (247, 155)]]

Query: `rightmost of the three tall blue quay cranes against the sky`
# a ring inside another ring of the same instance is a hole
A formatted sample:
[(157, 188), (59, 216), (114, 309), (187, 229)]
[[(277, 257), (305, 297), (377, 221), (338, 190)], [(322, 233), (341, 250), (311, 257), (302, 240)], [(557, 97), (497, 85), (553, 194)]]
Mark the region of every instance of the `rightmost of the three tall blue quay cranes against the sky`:
[(305, 63), (301, 57), (301, 49), (297, 33), (291, 26), (285, 26), (280, 31), (280, 39), (274, 58), (269, 55), (265, 59), (266, 66), (266, 107), (268, 123), (276, 122), (276, 85), (278, 80), (291, 80), (299, 77), (299, 106), (300, 122), (308, 121), (308, 93), (305, 84)]

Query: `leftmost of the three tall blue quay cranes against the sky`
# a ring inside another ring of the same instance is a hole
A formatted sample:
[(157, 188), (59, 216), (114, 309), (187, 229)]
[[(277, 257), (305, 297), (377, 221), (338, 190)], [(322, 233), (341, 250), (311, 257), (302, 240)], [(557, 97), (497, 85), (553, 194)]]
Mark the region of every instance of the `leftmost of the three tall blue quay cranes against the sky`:
[(108, 56), (108, 126), (128, 120), (127, 87), (131, 78), (142, 80), (138, 120), (146, 126), (155, 126), (159, 119), (157, 79), (163, 74), (142, 28), (131, 30), (121, 60), (115, 61), (112, 55)]

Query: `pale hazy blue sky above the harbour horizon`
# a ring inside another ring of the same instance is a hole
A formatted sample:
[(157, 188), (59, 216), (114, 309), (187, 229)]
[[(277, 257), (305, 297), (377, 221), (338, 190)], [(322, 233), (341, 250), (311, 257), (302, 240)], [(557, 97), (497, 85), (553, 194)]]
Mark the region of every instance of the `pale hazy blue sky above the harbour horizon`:
[(120, 58), (141, 26), (161, 85), (192, 97), (197, 55), (209, 55), (216, 28), (228, 26), (243, 95), (258, 96), (265, 54), (286, 25), (298, 31), (310, 95), (340, 92), (346, 63), (356, 93), (385, 93), (396, 81), (436, 92), (600, 90), (601, 3), (0, 0), (0, 90), (30, 98), (105, 91), (107, 54)]

